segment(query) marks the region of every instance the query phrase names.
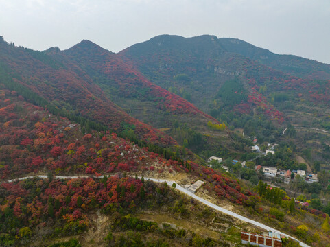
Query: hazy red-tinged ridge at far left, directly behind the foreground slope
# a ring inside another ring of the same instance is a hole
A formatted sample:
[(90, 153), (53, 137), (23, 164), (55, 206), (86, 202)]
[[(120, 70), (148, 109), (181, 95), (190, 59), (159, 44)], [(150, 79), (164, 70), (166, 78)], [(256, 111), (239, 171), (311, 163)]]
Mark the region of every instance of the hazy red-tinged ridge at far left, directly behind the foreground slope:
[[(62, 61), (47, 53), (54, 56), (58, 54)], [(28, 91), (25, 94), (29, 97), (33, 95), (31, 98), (44, 107), (54, 108), (64, 115), (70, 115), (72, 119), (83, 117), (119, 132), (134, 128), (139, 138), (159, 145), (176, 143), (163, 132), (121, 110), (85, 71), (60, 55), (56, 49), (43, 53), (14, 47), (3, 41), (0, 43), (0, 64), (6, 88), (20, 90), (19, 93)], [(87, 129), (91, 127), (86, 126)]]

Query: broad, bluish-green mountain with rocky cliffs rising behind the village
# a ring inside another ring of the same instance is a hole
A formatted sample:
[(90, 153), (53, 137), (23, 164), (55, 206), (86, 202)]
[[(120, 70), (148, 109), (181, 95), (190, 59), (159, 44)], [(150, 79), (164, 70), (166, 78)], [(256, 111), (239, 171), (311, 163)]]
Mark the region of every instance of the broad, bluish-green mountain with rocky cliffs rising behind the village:
[[(156, 36), (119, 55), (158, 86), (189, 98), (205, 113), (261, 143), (281, 141), (283, 130), (294, 126), (300, 155), (312, 149), (315, 155), (306, 158), (307, 162), (318, 161), (327, 167), (329, 143), (316, 143), (328, 138), (329, 64), (208, 35)], [(285, 64), (299, 69), (295, 72)], [(306, 140), (313, 144), (307, 145)]]

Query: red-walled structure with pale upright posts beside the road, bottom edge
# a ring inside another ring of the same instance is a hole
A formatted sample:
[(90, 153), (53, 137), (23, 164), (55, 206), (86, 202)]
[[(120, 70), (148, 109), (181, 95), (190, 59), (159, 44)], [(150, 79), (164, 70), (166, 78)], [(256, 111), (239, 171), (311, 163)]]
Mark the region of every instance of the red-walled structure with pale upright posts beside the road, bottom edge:
[(277, 237), (241, 232), (241, 243), (261, 247), (282, 247), (282, 240)]

